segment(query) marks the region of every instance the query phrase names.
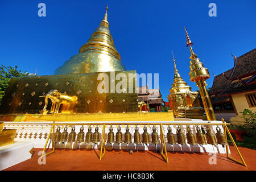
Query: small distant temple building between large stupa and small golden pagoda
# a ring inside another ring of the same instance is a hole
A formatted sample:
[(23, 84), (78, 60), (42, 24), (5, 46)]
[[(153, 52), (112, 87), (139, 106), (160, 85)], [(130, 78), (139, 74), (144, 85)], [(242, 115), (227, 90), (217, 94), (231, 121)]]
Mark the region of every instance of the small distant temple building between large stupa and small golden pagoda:
[(144, 101), (147, 106), (142, 106), (142, 111), (156, 111), (162, 112), (162, 104), (164, 103), (162, 99), (162, 94), (160, 89), (148, 89), (148, 86), (138, 86), (138, 101)]

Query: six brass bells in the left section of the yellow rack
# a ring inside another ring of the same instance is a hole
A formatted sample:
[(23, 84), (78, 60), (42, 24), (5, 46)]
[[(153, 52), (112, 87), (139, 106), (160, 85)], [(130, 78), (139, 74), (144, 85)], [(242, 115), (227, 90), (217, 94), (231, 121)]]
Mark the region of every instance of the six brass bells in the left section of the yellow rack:
[[(85, 139), (84, 139), (85, 137)], [(68, 134), (68, 127), (65, 126), (63, 133), (60, 133), (60, 126), (57, 127), (56, 133), (53, 136), (53, 142), (75, 142), (76, 141), (76, 132), (75, 126), (72, 127), (71, 133)], [(100, 142), (100, 133), (98, 132), (98, 126), (95, 128), (95, 132), (92, 133), (92, 127), (89, 126), (88, 132), (84, 133), (84, 127), (80, 128), (79, 134), (77, 134), (77, 142)]]

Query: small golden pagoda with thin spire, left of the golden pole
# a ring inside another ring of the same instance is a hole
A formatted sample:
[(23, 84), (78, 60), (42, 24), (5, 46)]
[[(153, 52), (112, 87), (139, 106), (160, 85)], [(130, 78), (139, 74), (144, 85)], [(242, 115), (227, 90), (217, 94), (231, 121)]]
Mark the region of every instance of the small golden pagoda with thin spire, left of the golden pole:
[[(174, 53), (172, 52), (174, 59)], [(204, 109), (200, 106), (197, 92), (191, 91), (191, 86), (183, 80), (177, 71), (174, 59), (174, 83), (167, 96), (169, 109), (174, 111), (175, 117), (204, 119)]]

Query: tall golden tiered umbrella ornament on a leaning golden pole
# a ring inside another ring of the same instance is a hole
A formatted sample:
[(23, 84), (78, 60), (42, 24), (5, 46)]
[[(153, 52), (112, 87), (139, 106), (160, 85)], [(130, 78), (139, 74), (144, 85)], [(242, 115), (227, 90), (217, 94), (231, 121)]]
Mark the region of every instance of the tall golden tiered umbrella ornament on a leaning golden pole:
[(216, 121), (216, 117), (213, 111), (212, 103), (210, 102), (210, 97), (207, 91), (207, 83), (205, 80), (207, 80), (210, 77), (209, 71), (207, 68), (204, 68), (203, 63), (200, 61), (200, 59), (197, 57), (195, 52), (193, 52), (192, 49), (192, 42), (188, 36), (188, 32), (185, 27), (185, 33), (187, 36), (187, 47), (189, 47), (189, 50), (191, 52), (191, 56), (189, 57), (191, 59), (190, 61), (190, 72), (189, 77), (191, 81), (196, 82), (196, 85), (199, 87), (199, 92), (201, 94), (201, 98), (203, 101), (205, 113), (207, 114), (207, 119), (209, 121)]

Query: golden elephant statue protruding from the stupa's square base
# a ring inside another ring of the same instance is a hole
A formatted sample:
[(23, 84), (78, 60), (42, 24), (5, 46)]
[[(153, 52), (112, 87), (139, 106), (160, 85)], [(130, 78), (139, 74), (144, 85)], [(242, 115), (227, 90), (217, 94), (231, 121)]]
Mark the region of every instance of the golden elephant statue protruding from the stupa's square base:
[(59, 113), (60, 106), (61, 113), (73, 113), (73, 107), (77, 104), (77, 96), (68, 96), (67, 94), (58, 92), (58, 90), (50, 90), (44, 96), (39, 97), (45, 97), (43, 111), (47, 111), (48, 99), (52, 102), (51, 110), (47, 114)]

